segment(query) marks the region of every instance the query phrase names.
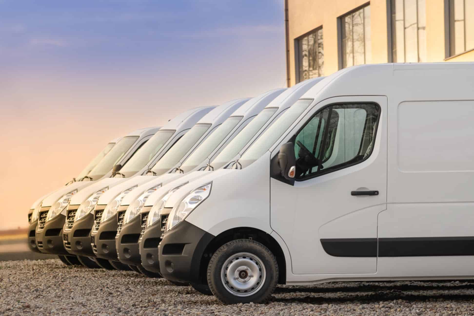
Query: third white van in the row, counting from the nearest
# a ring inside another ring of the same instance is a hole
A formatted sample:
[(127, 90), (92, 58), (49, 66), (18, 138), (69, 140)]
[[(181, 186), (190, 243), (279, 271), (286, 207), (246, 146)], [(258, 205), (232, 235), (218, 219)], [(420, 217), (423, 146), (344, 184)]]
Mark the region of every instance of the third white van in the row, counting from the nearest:
[[(163, 196), (169, 191), (169, 189), (166, 188), (167, 184), (170, 182), (179, 182), (179, 178), (194, 174), (194, 177), (188, 177), (187, 180), (184, 180), (184, 182), (187, 182), (195, 177), (199, 177), (201, 173), (194, 173), (193, 171), (210, 167), (210, 159), (208, 157), (217, 156), (236, 135), (248, 126), (249, 123), (253, 122), (254, 118), (257, 117), (266, 105), (275, 97), (278, 97), (284, 90), (286, 89), (267, 91), (239, 106), (222, 124), (215, 127), (215, 130), (212, 131), (209, 138), (204, 140), (187, 158), (182, 159), (170, 172), (162, 176), (154, 177), (151, 181), (138, 186), (137, 189), (122, 200), (120, 207), (126, 208), (126, 211), (118, 213), (117, 219), (122, 217), (123, 220), (121, 220), (120, 225), (118, 225), (116, 229), (117, 236), (115, 238), (115, 246), (117, 253), (113, 254), (118, 255), (120, 262), (137, 266), (137, 269), (148, 276), (156, 276), (153, 273), (148, 273), (143, 270), (138, 245), (141, 232), (145, 229), (144, 225), (146, 225), (146, 216), (149, 211), (149, 209), (144, 210), (148, 198), (151, 195)], [(182, 182), (174, 184), (173, 187), (180, 184), (182, 184)], [(150, 188), (156, 185), (160, 187), (156, 190), (150, 190)], [(109, 227), (116, 223), (116, 221), (112, 221), (113, 223), (110, 223)], [(99, 234), (102, 229), (105, 229), (103, 225), (100, 226), (97, 234)], [(158, 244), (156, 244), (156, 246), (157, 245)], [(99, 246), (99, 244), (97, 246)]]

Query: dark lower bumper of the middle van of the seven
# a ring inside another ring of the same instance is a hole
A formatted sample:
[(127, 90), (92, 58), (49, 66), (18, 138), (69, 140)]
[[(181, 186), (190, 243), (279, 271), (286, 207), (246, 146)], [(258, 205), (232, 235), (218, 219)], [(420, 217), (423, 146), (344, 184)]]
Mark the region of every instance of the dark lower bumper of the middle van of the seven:
[(92, 231), (89, 242), (93, 245), (94, 255), (105, 260), (117, 261), (117, 251), (115, 248), (115, 236), (117, 235), (117, 216), (112, 216), (103, 223), (100, 223), (99, 230)]

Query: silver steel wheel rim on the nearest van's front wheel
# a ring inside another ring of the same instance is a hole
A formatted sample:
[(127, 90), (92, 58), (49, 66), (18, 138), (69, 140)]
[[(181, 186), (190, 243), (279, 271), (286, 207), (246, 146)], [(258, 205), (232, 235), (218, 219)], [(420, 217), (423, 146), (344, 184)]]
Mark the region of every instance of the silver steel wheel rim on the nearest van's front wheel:
[(265, 266), (256, 255), (241, 252), (231, 255), (220, 272), (222, 284), (235, 296), (246, 297), (262, 288), (266, 278)]

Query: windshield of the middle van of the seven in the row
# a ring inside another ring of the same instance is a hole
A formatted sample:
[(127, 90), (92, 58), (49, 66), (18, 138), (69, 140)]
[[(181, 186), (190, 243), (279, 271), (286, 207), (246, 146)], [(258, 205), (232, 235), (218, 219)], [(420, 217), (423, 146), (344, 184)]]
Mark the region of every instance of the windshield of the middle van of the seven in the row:
[(153, 172), (157, 176), (163, 175), (166, 171), (173, 168), (191, 147), (201, 139), (202, 135), (209, 130), (211, 124), (196, 124), (189, 132), (173, 145), (173, 147), (164, 154), (164, 156), (158, 160), (155, 166), (152, 168)]

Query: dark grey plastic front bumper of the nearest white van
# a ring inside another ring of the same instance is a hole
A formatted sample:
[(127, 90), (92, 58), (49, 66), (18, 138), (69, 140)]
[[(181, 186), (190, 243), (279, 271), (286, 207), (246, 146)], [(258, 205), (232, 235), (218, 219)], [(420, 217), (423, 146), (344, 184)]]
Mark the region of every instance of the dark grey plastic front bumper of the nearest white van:
[(187, 221), (178, 224), (158, 246), (160, 273), (171, 281), (201, 283), (201, 258), (213, 238)]

